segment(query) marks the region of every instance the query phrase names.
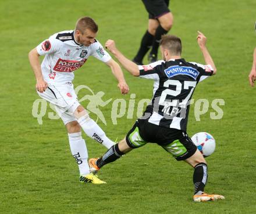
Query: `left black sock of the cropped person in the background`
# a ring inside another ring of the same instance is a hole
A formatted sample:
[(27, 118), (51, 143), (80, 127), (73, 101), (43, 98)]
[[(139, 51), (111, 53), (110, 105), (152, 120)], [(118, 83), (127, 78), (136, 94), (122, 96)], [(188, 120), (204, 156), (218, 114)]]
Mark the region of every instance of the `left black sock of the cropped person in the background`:
[(138, 50), (137, 55), (134, 57), (136, 62), (142, 62), (145, 54), (147, 54), (148, 50), (150, 49), (153, 40), (154, 35), (150, 34), (147, 30), (141, 40), (140, 49)]

